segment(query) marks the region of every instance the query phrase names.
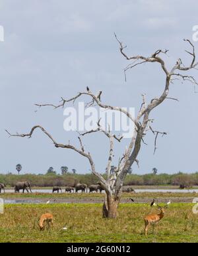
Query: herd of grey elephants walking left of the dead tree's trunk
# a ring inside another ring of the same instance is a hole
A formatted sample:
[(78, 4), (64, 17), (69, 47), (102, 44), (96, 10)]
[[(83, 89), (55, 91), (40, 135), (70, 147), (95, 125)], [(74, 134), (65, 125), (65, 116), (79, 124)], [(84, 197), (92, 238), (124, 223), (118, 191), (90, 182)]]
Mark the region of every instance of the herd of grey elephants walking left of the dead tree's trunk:
[[(4, 183), (0, 183), (0, 193), (1, 193), (1, 190), (3, 190), (5, 192), (5, 184)], [(81, 190), (81, 192), (87, 192), (87, 188), (89, 189), (89, 192), (93, 192), (93, 191), (100, 191), (100, 193), (102, 192), (103, 188), (102, 186), (100, 186), (99, 184), (97, 185), (90, 185), (90, 186), (87, 186), (86, 184), (76, 184), (75, 186), (67, 186), (65, 188), (65, 192), (78, 192), (79, 190)], [(22, 190), (22, 192), (24, 193), (24, 190), (26, 190), (27, 192), (32, 192), (31, 190), (31, 186), (30, 186), (30, 182), (28, 181), (25, 181), (25, 182), (16, 182), (15, 184), (15, 187), (14, 187), (14, 190), (15, 190), (15, 193), (19, 193), (20, 190)], [(59, 190), (62, 192), (61, 190), (61, 187), (60, 186), (54, 186), (52, 188), (52, 193), (57, 191), (59, 193)]]

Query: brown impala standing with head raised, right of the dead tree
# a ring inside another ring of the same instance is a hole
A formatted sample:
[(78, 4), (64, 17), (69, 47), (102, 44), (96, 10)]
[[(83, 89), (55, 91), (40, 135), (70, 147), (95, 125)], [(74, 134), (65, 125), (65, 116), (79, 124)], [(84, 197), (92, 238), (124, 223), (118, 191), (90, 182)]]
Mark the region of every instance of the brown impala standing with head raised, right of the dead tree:
[(170, 204), (170, 201), (163, 208), (161, 206), (158, 206), (158, 204), (155, 204), (154, 200), (151, 204), (152, 204), (152, 206), (157, 206), (158, 209), (160, 210), (160, 213), (159, 214), (149, 214), (149, 215), (145, 216), (144, 221), (145, 221), (145, 235), (146, 236), (147, 236), (147, 231), (149, 229), (149, 225), (152, 224), (152, 233), (153, 233), (154, 225), (156, 225), (156, 227), (157, 227), (158, 222), (160, 220), (162, 220), (162, 218), (164, 217), (164, 210), (165, 210), (165, 208), (168, 207), (168, 204)]

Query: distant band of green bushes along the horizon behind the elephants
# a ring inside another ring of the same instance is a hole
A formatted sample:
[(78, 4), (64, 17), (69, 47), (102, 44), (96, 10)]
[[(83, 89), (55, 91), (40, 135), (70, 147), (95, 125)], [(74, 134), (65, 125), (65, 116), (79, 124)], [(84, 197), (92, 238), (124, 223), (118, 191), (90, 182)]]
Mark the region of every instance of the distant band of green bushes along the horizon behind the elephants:
[[(32, 186), (74, 186), (76, 183), (96, 184), (98, 182), (93, 174), (77, 174), (76, 172), (65, 172), (56, 174), (53, 168), (49, 168), (46, 174), (0, 174), (0, 183), (7, 186), (14, 186), (17, 181), (28, 180)], [(65, 175), (66, 174), (66, 175)], [(106, 174), (104, 174), (105, 177)], [(187, 174), (178, 172), (176, 174), (128, 174), (125, 179), (125, 186), (137, 185), (175, 185), (175, 186), (198, 186), (198, 172)]]

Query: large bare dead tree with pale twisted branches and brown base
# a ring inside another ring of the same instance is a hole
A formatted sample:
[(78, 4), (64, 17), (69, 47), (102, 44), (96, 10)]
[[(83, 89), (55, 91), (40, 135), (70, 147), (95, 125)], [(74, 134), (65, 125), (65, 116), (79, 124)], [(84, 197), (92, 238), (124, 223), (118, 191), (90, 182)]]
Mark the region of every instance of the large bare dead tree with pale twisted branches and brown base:
[[(116, 40), (119, 43), (119, 50), (123, 55), (123, 57), (126, 60), (129, 60), (130, 62), (132, 61), (132, 63), (125, 68), (125, 72), (143, 63), (156, 62), (159, 64), (160, 68), (162, 68), (162, 71), (164, 72), (164, 75), (165, 75), (165, 85), (164, 85), (164, 90), (162, 90), (162, 94), (160, 94), (160, 96), (158, 97), (154, 97), (153, 99), (151, 99), (149, 103), (147, 103), (145, 95), (143, 95), (143, 102), (141, 103), (141, 108), (135, 118), (133, 118), (128, 111), (126, 111), (125, 109), (122, 109), (121, 107), (114, 107), (112, 105), (106, 105), (102, 103), (101, 101), (102, 92), (100, 91), (97, 94), (93, 94), (90, 91), (90, 88), (86, 88), (85, 92), (79, 92), (79, 94), (72, 97), (71, 99), (65, 99), (62, 97), (59, 105), (53, 105), (51, 103), (36, 104), (38, 107), (51, 106), (57, 109), (59, 107), (64, 107), (68, 102), (76, 101), (81, 96), (88, 96), (90, 97), (91, 101), (87, 105), (98, 105), (103, 109), (120, 111), (125, 115), (127, 115), (127, 117), (134, 122), (135, 129), (133, 131), (133, 134), (131, 135), (131, 141), (129, 145), (126, 147), (125, 152), (123, 153), (123, 157), (119, 159), (119, 164), (117, 164), (118, 166), (113, 173), (111, 172), (111, 166), (112, 166), (112, 159), (114, 157), (114, 154), (113, 154), (114, 140), (119, 142), (121, 141), (122, 137), (116, 137), (116, 135), (110, 133), (110, 131), (105, 131), (104, 129), (102, 129), (100, 125), (100, 120), (98, 121), (98, 127), (95, 130), (86, 131), (86, 133), (82, 133), (81, 135), (79, 135), (79, 142), (80, 142), (79, 148), (75, 147), (74, 145), (71, 145), (70, 143), (69, 144), (57, 143), (57, 141), (55, 141), (55, 139), (51, 136), (51, 134), (48, 133), (48, 131), (46, 131), (46, 129), (44, 129), (40, 125), (36, 125), (32, 127), (30, 133), (26, 133), (26, 134), (17, 133), (13, 135), (7, 131), (7, 133), (9, 133), (10, 136), (32, 137), (34, 131), (36, 129), (40, 129), (43, 133), (45, 133), (48, 136), (48, 138), (52, 141), (55, 147), (63, 148), (63, 149), (71, 149), (79, 153), (82, 157), (86, 157), (86, 159), (88, 159), (90, 163), (92, 173), (97, 176), (98, 180), (100, 180), (100, 185), (106, 191), (106, 198), (104, 200), (104, 205), (102, 208), (102, 213), (104, 218), (116, 218), (117, 216), (117, 207), (119, 205), (120, 198), (121, 198), (123, 181), (125, 180), (125, 176), (127, 175), (127, 172), (130, 170), (133, 163), (136, 162), (138, 164), (137, 156), (141, 149), (141, 144), (144, 143), (144, 139), (143, 139), (144, 136), (147, 134), (148, 131), (152, 131), (152, 133), (155, 136), (155, 139), (154, 139), (154, 151), (155, 151), (156, 139), (158, 135), (166, 135), (165, 132), (155, 131), (154, 129), (152, 129), (151, 127), (152, 120), (149, 118), (150, 112), (155, 107), (158, 107), (158, 105), (160, 105), (165, 99), (174, 99), (172, 97), (168, 97), (168, 94), (169, 94), (170, 84), (175, 79), (181, 78), (183, 81), (191, 82), (194, 86), (197, 85), (197, 82), (195, 78), (193, 78), (193, 76), (183, 74), (184, 72), (187, 72), (191, 69), (195, 69), (198, 64), (197, 62), (195, 62), (195, 48), (193, 44), (190, 42), (190, 40), (185, 40), (185, 42), (187, 42), (189, 46), (192, 48), (191, 52), (186, 50), (187, 54), (189, 54), (192, 58), (191, 63), (189, 64), (189, 66), (184, 66), (182, 63), (182, 60), (179, 58), (171, 70), (168, 70), (163, 58), (161, 57), (162, 54), (166, 54), (168, 50), (156, 50), (149, 57), (145, 57), (141, 55), (127, 56), (127, 54), (125, 54), (124, 52), (124, 49), (126, 48), (126, 46), (123, 46), (122, 42), (120, 42), (117, 39), (117, 36), (116, 36)], [(84, 146), (82, 144), (82, 139), (81, 139), (82, 136), (88, 135), (90, 133), (96, 133), (96, 132), (103, 133), (110, 141), (110, 151), (109, 151), (108, 163), (106, 168), (106, 179), (104, 179), (102, 175), (100, 175), (97, 172), (95, 168), (95, 164), (92, 160), (92, 156), (90, 155), (89, 152), (85, 151)], [(114, 186), (115, 186), (115, 189), (114, 189)]]

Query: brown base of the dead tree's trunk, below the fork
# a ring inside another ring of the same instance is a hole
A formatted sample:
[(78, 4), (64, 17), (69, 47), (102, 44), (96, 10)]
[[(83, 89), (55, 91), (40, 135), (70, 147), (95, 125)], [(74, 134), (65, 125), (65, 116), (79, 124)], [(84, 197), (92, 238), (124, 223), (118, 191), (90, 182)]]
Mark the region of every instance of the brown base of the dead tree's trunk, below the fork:
[(119, 198), (115, 198), (111, 194), (106, 194), (104, 204), (102, 206), (102, 217), (116, 219), (118, 216), (117, 208), (119, 206)]

